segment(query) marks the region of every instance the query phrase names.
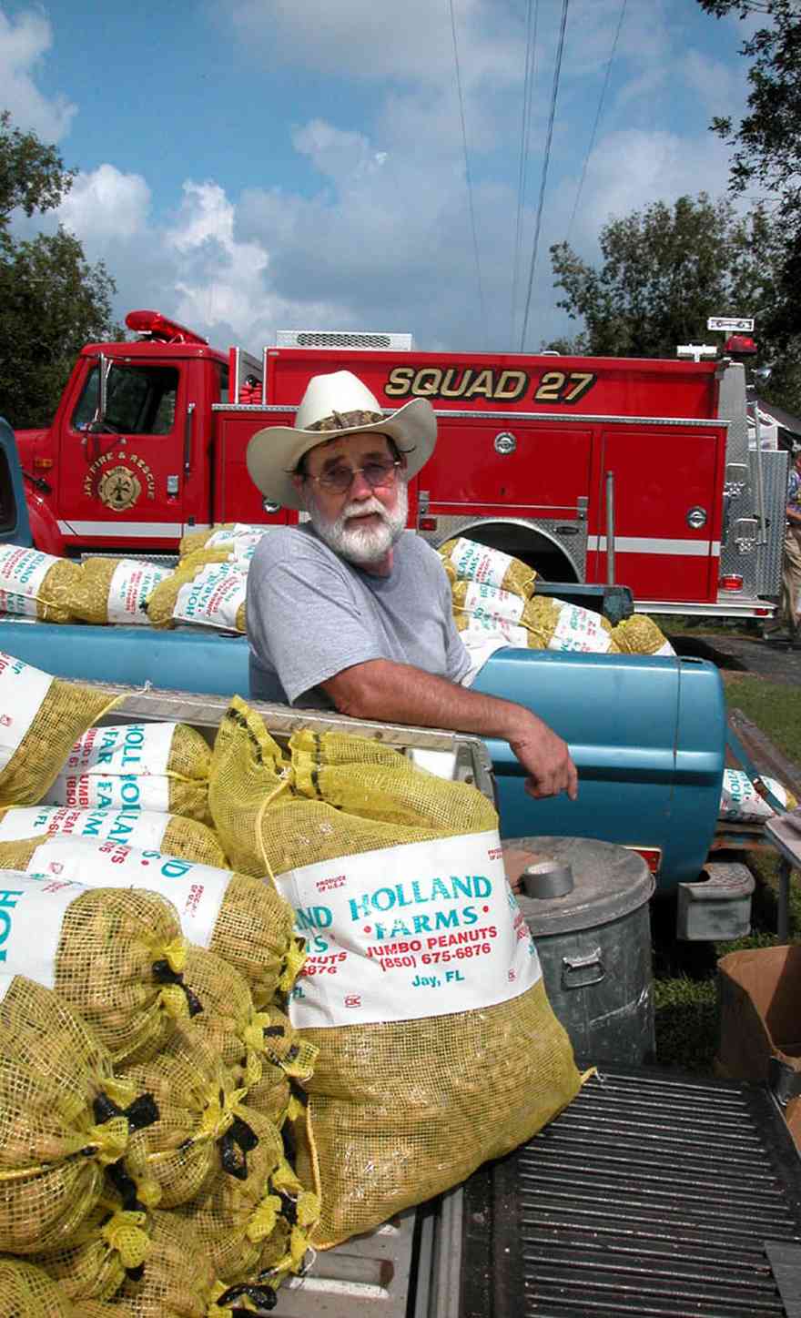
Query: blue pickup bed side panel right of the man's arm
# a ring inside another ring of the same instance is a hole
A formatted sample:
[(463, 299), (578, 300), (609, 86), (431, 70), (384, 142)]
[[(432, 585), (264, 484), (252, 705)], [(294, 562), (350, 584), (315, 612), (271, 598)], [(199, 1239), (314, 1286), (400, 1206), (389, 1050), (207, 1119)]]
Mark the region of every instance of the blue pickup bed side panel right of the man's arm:
[(539, 713), (565, 738), (578, 768), (577, 801), (565, 795), (535, 801), (507, 743), (489, 741), (503, 837), (659, 847), (657, 891), (697, 879), (718, 818), (726, 755), (714, 664), (509, 648), (489, 659), (473, 689)]

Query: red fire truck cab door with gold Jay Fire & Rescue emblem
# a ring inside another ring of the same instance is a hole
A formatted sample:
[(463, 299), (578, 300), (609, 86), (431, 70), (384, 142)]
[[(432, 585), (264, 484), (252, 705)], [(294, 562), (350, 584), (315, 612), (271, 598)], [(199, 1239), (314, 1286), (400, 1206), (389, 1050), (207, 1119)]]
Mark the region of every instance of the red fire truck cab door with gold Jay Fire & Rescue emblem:
[[(186, 376), (180, 362), (112, 362), (105, 418), (90, 428), (97, 406), (97, 365), (62, 428), (58, 518), (75, 543), (136, 548), (183, 531), (187, 457), (199, 418), (187, 422)], [(188, 445), (188, 453), (186, 452)]]

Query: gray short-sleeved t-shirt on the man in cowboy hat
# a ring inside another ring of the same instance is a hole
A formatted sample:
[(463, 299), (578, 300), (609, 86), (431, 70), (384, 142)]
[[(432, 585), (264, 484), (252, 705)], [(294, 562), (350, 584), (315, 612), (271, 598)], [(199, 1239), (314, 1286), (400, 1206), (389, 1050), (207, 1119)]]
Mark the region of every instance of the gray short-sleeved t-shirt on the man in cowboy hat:
[(248, 638), (254, 700), (304, 708), (331, 708), (320, 683), (369, 659), (452, 681), (470, 668), (439, 555), (414, 531), (387, 577), (340, 559), (310, 526), (270, 531), (248, 573)]

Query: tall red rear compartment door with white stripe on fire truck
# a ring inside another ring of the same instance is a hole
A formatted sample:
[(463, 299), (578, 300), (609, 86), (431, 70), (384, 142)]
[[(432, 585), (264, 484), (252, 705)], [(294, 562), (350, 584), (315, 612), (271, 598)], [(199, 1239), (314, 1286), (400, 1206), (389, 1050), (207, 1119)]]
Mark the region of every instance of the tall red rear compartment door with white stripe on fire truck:
[[(624, 581), (635, 600), (717, 598), (721, 497), (715, 490), (725, 460), (723, 434), (675, 427), (621, 427), (603, 434), (597, 522), (588, 546), (590, 580), (606, 576), (605, 482), (613, 472), (615, 581)], [(704, 525), (693, 525), (702, 515)]]

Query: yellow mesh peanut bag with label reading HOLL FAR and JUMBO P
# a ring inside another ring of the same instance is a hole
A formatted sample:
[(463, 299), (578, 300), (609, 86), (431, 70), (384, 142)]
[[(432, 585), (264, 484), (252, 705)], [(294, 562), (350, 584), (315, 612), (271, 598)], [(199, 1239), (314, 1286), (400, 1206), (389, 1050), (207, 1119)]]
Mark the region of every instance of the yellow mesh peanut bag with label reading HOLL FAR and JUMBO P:
[(42, 804), (208, 818), (211, 751), (195, 728), (157, 722), (91, 728), (87, 722), (79, 729), (82, 735), (70, 741)]

